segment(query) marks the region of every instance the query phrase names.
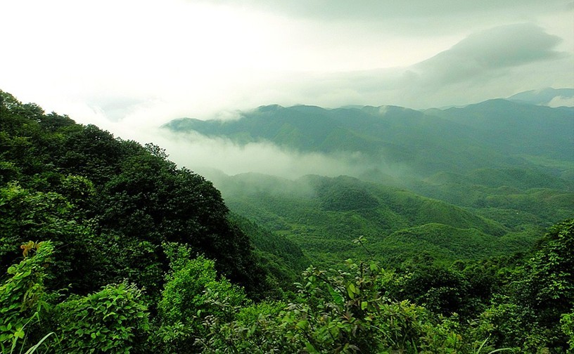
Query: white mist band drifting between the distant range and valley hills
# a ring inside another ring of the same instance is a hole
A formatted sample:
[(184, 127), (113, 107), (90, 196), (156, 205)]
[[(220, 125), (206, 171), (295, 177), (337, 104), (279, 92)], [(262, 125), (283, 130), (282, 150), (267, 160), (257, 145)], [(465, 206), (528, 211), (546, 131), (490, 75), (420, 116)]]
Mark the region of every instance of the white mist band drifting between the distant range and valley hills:
[(391, 169), (384, 162), (371, 162), (359, 153), (295, 152), (268, 142), (236, 145), (227, 138), (208, 138), (195, 132), (125, 131), (122, 138), (153, 141), (165, 148), (173, 162), (198, 173), (219, 169), (228, 175), (256, 172), (291, 179), (307, 174), (360, 176), (373, 169), (385, 169), (391, 176), (404, 173), (403, 167)]

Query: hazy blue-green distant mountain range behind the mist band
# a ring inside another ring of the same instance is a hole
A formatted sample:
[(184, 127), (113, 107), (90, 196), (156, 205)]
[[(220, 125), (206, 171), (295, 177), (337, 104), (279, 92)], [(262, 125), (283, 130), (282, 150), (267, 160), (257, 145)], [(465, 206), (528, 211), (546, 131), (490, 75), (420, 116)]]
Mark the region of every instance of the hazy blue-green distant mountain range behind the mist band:
[(574, 163), (574, 107), (504, 99), (422, 112), (390, 105), (267, 105), (231, 121), (181, 118), (163, 127), (238, 145), (266, 141), (298, 152), (350, 153), (374, 166), (407, 165), (419, 176), (540, 166), (574, 178), (568, 172)]

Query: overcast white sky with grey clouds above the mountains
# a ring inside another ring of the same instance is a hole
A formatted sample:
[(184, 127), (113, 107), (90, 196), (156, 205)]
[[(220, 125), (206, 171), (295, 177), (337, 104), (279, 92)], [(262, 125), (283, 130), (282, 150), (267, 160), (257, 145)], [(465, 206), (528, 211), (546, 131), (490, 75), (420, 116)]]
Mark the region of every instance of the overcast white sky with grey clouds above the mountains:
[(4, 0), (0, 33), (0, 89), (120, 135), (272, 103), (574, 86), (569, 0)]

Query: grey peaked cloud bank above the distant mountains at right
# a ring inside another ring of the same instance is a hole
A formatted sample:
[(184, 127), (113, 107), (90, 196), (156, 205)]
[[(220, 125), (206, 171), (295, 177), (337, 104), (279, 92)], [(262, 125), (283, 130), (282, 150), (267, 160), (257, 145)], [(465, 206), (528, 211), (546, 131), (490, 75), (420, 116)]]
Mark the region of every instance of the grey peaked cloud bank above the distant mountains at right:
[(505, 25), (470, 34), (414, 65), (316, 75), (309, 78), (314, 85), (302, 86), (309, 97), (331, 107), (467, 104), (525, 89), (571, 86), (572, 56), (556, 50), (560, 43), (560, 37), (532, 23)]

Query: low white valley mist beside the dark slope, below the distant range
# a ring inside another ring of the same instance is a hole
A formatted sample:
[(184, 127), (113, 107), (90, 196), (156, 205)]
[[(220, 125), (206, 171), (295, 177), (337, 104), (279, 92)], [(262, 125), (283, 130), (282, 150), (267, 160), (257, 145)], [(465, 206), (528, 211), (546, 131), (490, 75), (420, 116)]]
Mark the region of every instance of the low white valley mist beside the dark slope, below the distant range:
[[(271, 178), (274, 182), (263, 183), (264, 189), (285, 194), (305, 190), (300, 178), (307, 175), (352, 176), (390, 185), (403, 185), (416, 176), (406, 164), (389, 164), (383, 156), (375, 161), (361, 152), (297, 152), (266, 141), (239, 145), (229, 138), (207, 137), (195, 132), (173, 133), (166, 129), (157, 129), (153, 134), (132, 131), (131, 138), (153, 141), (164, 148), (178, 166), (205, 176), (223, 192), (231, 188), (229, 182), (225, 183), (229, 177), (242, 174), (251, 174), (253, 185)], [(289, 181), (299, 181), (300, 185), (290, 190)]]

